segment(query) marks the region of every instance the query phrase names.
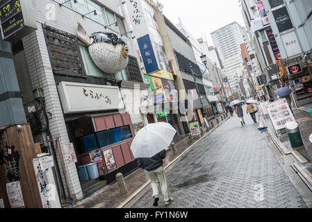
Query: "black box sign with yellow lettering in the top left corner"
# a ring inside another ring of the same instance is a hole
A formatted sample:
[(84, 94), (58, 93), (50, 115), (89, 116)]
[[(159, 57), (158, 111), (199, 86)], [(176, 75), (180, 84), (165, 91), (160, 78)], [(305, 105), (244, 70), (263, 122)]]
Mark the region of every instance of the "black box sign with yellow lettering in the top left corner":
[(6, 41), (17, 42), (37, 29), (32, 1), (0, 1), (0, 19), (2, 38)]

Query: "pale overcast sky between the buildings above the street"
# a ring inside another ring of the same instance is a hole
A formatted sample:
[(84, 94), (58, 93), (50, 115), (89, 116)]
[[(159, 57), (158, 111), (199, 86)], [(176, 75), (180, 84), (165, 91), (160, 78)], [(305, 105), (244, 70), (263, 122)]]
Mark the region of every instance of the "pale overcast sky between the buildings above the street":
[(163, 14), (174, 24), (184, 26), (198, 39), (204, 37), (213, 45), (213, 31), (231, 22), (245, 26), (238, 0), (158, 0), (163, 3)]

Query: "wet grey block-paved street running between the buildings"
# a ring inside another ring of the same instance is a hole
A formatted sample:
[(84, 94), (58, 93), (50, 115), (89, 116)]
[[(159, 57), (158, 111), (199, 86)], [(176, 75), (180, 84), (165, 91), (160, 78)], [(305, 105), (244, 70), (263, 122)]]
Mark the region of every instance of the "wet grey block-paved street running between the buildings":
[[(266, 134), (244, 118), (242, 127), (234, 114), (167, 173), (174, 198), (169, 208), (307, 207)], [(153, 207), (151, 190), (132, 207)], [(158, 207), (165, 207), (162, 197)]]

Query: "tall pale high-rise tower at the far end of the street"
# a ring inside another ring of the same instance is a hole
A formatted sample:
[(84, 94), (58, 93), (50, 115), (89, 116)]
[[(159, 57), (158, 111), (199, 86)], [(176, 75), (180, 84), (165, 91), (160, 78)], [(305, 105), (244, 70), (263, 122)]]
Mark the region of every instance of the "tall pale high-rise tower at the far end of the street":
[(233, 89), (238, 88), (237, 76), (243, 75), (238, 73), (243, 65), (240, 55), (240, 44), (245, 43), (243, 35), (247, 35), (245, 28), (237, 22), (228, 24), (211, 33), (213, 44), (220, 53), (224, 71), (227, 73), (229, 84)]

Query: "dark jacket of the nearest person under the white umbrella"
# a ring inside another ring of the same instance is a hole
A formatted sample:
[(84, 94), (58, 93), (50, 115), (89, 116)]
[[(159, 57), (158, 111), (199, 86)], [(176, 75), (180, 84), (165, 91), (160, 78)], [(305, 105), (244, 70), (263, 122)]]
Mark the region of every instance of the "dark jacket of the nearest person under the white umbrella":
[(165, 159), (166, 155), (166, 151), (163, 150), (151, 158), (138, 158), (138, 167), (146, 171), (154, 171), (163, 166), (163, 159)]

